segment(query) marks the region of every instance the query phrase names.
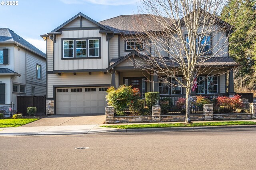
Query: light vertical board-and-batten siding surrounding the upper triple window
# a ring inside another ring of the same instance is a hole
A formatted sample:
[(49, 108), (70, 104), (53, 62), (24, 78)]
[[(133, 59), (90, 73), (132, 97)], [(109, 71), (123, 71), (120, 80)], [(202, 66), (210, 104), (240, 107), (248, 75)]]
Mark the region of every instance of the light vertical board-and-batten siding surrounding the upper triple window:
[[(101, 37), (101, 58), (93, 59), (68, 59), (62, 60), (62, 38), (94, 38)], [(72, 30), (62, 31), (56, 37), (54, 44), (54, 70), (86, 70), (86, 69), (105, 69), (108, 67), (108, 42), (106, 35), (100, 34), (98, 29), (94, 30)]]

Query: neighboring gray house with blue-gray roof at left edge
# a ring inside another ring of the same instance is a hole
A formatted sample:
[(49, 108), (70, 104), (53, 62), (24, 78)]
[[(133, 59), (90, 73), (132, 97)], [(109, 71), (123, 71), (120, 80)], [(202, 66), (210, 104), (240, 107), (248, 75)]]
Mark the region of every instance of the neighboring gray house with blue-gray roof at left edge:
[(46, 95), (46, 55), (8, 28), (0, 29), (0, 112), (16, 96)]

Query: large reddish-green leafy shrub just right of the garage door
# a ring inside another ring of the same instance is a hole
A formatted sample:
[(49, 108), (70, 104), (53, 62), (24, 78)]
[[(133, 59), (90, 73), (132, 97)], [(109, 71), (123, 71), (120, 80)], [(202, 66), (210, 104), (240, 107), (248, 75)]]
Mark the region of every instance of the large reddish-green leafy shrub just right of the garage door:
[(140, 98), (138, 88), (132, 86), (119, 86), (115, 89), (113, 86), (108, 88), (106, 100), (109, 106), (113, 106), (116, 114), (124, 115), (124, 109), (134, 103)]

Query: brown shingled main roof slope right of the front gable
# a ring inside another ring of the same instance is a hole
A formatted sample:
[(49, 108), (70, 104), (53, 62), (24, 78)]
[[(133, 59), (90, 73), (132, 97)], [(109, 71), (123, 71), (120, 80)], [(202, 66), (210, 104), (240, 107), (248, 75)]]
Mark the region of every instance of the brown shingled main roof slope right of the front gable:
[[(134, 34), (137, 31), (143, 31), (142, 25), (138, 23), (143, 23), (143, 27), (148, 31), (161, 30), (160, 24), (156, 22), (156, 18), (159, 18), (159, 16), (153, 16), (151, 14), (121, 15), (100, 21), (99, 23), (114, 31), (114, 33)], [(165, 20), (168, 23), (171, 23), (169, 18), (162, 17), (160, 20)]]

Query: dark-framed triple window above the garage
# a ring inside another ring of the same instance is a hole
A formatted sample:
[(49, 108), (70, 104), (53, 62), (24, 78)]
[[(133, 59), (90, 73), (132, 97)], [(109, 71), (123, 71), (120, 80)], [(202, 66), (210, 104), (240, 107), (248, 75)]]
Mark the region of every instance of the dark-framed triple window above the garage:
[(100, 57), (100, 37), (62, 39), (62, 59), (88, 59)]

